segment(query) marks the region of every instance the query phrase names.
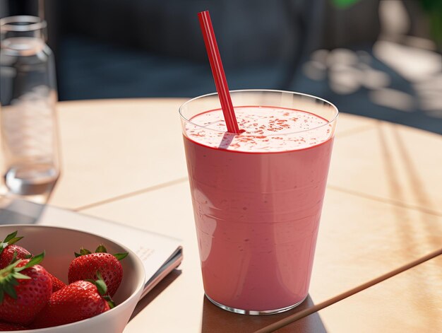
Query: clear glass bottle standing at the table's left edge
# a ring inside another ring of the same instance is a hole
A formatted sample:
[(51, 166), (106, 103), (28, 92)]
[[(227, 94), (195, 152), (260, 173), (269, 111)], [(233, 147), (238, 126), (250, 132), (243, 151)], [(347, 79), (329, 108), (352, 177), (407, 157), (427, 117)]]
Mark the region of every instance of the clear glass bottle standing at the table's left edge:
[(44, 203), (60, 175), (54, 56), (46, 22), (0, 19), (0, 131), (4, 195)]

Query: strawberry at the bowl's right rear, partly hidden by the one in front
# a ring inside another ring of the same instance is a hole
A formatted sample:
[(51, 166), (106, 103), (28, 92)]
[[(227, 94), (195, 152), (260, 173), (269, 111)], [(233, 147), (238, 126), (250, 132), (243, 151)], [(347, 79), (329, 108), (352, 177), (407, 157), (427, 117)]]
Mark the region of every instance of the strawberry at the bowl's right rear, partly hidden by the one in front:
[(95, 253), (89, 250), (80, 249), (76, 253), (76, 259), (73, 259), (69, 265), (68, 281), (71, 284), (78, 280), (97, 279), (97, 271), (100, 271), (107, 286), (110, 296), (117, 292), (121, 280), (123, 279), (123, 267), (119, 260), (124, 259), (128, 253), (116, 253), (111, 255), (107, 253), (106, 247), (100, 245)]

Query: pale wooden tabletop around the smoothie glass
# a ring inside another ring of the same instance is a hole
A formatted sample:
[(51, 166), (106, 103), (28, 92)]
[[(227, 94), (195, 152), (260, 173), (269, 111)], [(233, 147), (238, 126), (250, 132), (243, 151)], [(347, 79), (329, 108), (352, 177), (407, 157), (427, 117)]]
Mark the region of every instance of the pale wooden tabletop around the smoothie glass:
[(58, 105), (63, 165), (49, 204), (183, 240), (183, 264), (141, 300), (125, 333), (253, 332), (328, 300), (277, 332), (442, 332), (442, 136), (341, 114), (309, 298), (279, 315), (237, 315), (203, 297), (184, 100)]

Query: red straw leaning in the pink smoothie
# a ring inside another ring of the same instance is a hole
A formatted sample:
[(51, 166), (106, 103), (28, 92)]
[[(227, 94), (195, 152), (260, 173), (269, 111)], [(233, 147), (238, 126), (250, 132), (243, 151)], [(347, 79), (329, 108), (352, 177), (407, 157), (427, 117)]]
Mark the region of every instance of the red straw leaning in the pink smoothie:
[(229, 94), (229, 87), (222, 68), (220, 50), (213, 32), (212, 21), (210, 20), (209, 11), (198, 13), (201, 31), (203, 32), (205, 49), (209, 57), (210, 68), (212, 69), (213, 80), (215, 81), (218, 97), (220, 98), (222, 114), (227, 125), (227, 131), (234, 134), (240, 134), (237, 118), (233, 109), (232, 99)]

